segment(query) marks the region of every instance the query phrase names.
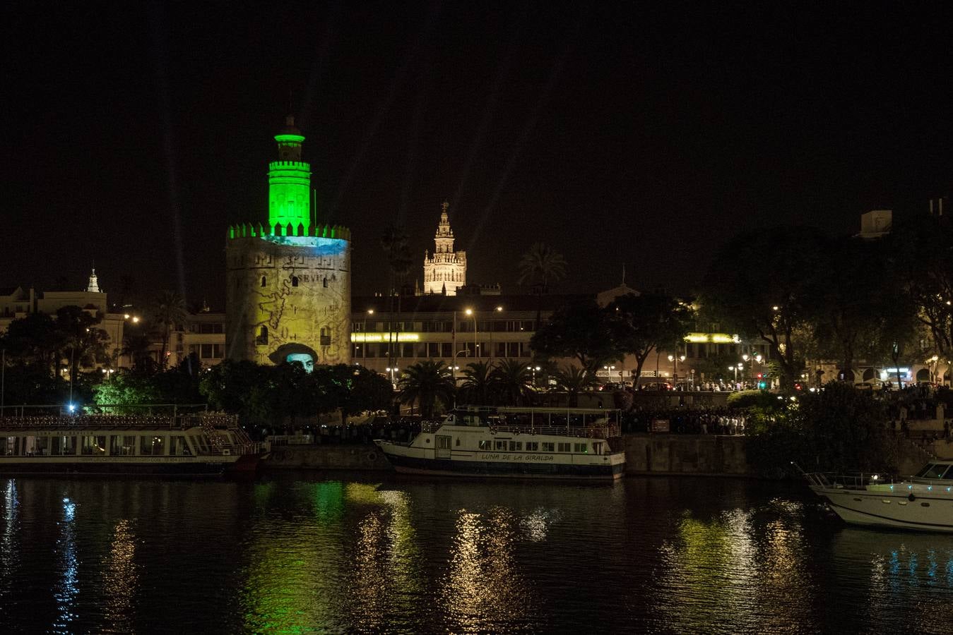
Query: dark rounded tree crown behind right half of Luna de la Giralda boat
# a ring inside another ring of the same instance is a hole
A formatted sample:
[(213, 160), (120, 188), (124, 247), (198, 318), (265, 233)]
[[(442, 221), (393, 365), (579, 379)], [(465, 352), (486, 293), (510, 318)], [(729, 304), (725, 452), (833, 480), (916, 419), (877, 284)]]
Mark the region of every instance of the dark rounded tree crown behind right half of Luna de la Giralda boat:
[(621, 359), (612, 322), (595, 300), (559, 308), (537, 328), (530, 347), (545, 358), (574, 357), (582, 367)]

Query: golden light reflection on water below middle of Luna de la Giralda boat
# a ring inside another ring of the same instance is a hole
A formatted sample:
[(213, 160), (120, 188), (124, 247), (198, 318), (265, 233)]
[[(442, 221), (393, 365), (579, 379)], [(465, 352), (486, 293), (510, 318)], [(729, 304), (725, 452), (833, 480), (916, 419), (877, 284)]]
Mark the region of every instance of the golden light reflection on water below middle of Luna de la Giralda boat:
[(516, 566), (517, 526), (518, 519), (508, 508), (457, 513), (450, 571), (440, 588), (451, 630), (487, 632), (504, 625), (513, 630), (540, 613)]

